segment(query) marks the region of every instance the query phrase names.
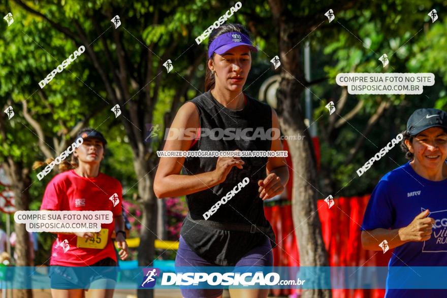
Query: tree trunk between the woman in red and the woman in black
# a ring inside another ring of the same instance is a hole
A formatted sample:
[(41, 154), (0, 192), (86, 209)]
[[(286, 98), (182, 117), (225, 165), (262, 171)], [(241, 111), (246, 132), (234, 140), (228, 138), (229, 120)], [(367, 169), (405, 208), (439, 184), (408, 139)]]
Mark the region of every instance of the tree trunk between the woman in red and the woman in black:
[[(153, 192), (154, 173), (149, 173), (151, 162), (135, 159), (134, 166), (138, 179), (138, 193), (141, 197), (143, 218), (141, 221), (140, 246), (138, 247), (138, 266), (153, 267), (154, 242), (157, 230), (157, 198)], [(141, 281), (143, 282), (143, 281)], [(138, 298), (153, 298), (153, 289), (138, 289)]]

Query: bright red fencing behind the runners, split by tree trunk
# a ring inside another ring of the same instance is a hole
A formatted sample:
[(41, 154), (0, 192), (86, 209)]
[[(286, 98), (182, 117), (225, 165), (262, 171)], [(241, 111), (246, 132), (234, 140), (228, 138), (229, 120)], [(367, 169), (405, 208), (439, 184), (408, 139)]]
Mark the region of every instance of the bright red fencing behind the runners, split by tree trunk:
[[(391, 253), (362, 248), (360, 225), (369, 195), (334, 198), (334, 206), (318, 200), (318, 216), (322, 223), (323, 241), (328, 251), (329, 266), (387, 266)], [(273, 249), (274, 266), (299, 266), (300, 254), (292, 221), (292, 206), (264, 208), (272, 224), (278, 246)], [(304, 220), (304, 219), (303, 219)], [(298, 225), (299, 223), (297, 223)], [(296, 289), (274, 289), (278, 295), (297, 294)], [(385, 289), (333, 289), (337, 297), (383, 297)]]

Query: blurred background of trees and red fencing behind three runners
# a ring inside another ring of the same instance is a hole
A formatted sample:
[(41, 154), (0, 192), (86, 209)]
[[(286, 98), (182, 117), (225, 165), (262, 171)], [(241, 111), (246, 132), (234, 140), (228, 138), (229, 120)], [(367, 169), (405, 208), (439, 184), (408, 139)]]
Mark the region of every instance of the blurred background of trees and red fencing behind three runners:
[[(131, 257), (123, 268), (173, 267), (184, 197), (157, 200), (157, 150), (178, 108), (204, 92), (207, 40), (195, 39), (232, 1), (3, 0), (0, 12), (0, 252), (10, 264), (48, 266), (53, 235), (28, 235), (16, 210), (39, 210), (46, 184), (35, 161), (54, 158), (82, 127), (108, 140), (101, 171), (123, 186)], [(419, 108), (447, 107), (445, 1), (242, 2), (241, 23), (260, 48), (244, 92), (280, 117), (291, 179), (265, 204), (278, 247), (275, 266), (387, 266), (390, 253), (364, 251), (360, 226), (378, 180), (406, 162), (396, 146), (358, 177), (356, 170), (404, 130)], [(332, 9), (329, 22), (325, 13)], [(433, 9), (438, 19), (428, 15)], [(120, 26), (111, 20), (119, 16)], [(44, 88), (39, 82), (81, 45), (85, 52)], [(386, 53), (389, 65), (379, 57)], [(278, 55), (275, 69), (270, 60)], [(169, 73), (163, 63), (170, 59)], [(338, 73), (433, 73), (419, 95), (350, 95)], [(335, 104), (336, 112), (325, 107)], [(119, 105), (122, 114), (112, 109)], [(14, 116), (4, 113), (9, 106)], [(293, 139), (290, 136), (301, 136)], [(332, 195), (330, 210), (323, 201)], [(314, 235), (306, 231), (310, 227)], [(13, 234), (14, 233), (14, 234)], [(13, 234), (13, 235), (12, 235)], [(11, 239), (13, 236), (13, 239)], [(315, 237), (314, 237), (315, 236)], [(320, 239), (320, 241), (310, 241)], [(300, 246), (308, 251), (299, 253)], [(14, 252), (16, 256), (14, 257)], [(4, 255), (7, 258), (7, 255)], [(3, 261), (3, 259), (2, 259)], [(383, 296), (383, 290), (272, 290), (274, 296)], [(328, 293), (330, 292), (330, 293)], [(16, 290), (14, 297), (49, 292)], [(153, 291), (118, 295), (153, 296)], [(180, 296), (155, 290), (155, 296)], [(310, 293), (309, 293), (310, 295)], [(130, 296), (128, 296), (130, 297)]]

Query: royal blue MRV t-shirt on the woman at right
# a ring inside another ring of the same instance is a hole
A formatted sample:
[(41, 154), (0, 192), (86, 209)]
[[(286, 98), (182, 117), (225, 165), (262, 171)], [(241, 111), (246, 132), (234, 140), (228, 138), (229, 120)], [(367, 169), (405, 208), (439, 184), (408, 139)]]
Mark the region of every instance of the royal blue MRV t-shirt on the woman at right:
[[(407, 242), (396, 247), (389, 267), (447, 266), (446, 193), (447, 179), (425, 179), (414, 172), (409, 161), (380, 179), (366, 207), (362, 230), (401, 228), (407, 226), (425, 209), (430, 210), (428, 217), (435, 219), (431, 238), (428, 241)], [(388, 290), (392, 278), (394, 277), (389, 273), (386, 297), (416, 294), (415, 290)], [(447, 296), (447, 290), (423, 290), (421, 293), (424, 293), (424, 297), (435, 297), (438, 294)]]

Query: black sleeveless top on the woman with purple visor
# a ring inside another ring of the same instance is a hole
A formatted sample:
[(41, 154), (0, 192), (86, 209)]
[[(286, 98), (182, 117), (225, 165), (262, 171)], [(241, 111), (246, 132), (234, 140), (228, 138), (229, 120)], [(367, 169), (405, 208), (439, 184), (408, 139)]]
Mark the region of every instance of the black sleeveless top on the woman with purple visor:
[[(244, 109), (235, 111), (227, 109), (215, 100), (211, 91), (197, 96), (192, 103), (196, 105), (200, 117), (200, 127), (203, 128), (252, 128), (247, 129), (245, 135), (252, 137), (256, 128), (263, 127), (264, 131), (272, 127), (272, 110), (267, 104), (261, 103), (247, 96)], [(200, 139), (189, 150), (202, 151), (269, 151), (271, 140), (261, 140), (253, 136), (253, 140), (212, 140), (201, 134)], [(266, 178), (266, 164), (268, 157), (241, 157), (245, 162), (243, 169), (233, 167), (227, 179), (212, 187), (196, 193), (186, 195), (186, 203), (192, 219), (204, 219), (207, 212), (217, 201), (232, 190), (247, 177), (249, 183), (241, 188), (231, 200), (223, 204), (211, 215), (209, 220), (222, 223), (236, 223), (240, 225), (256, 224), (268, 227), (268, 233), (249, 233), (234, 230), (221, 230), (193, 223), (187, 219), (183, 221), (180, 231), (182, 238), (199, 256), (220, 266), (234, 266), (236, 262), (254, 247), (270, 239), (272, 247), (275, 235), (270, 223), (264, 215), (263, 201), (259, 197), (258, 180)], [(186, 157), (183, 164), (185, 175), (211, 172), (216, 168), (217, 157)]]

